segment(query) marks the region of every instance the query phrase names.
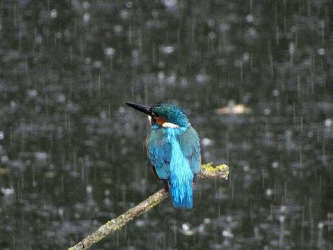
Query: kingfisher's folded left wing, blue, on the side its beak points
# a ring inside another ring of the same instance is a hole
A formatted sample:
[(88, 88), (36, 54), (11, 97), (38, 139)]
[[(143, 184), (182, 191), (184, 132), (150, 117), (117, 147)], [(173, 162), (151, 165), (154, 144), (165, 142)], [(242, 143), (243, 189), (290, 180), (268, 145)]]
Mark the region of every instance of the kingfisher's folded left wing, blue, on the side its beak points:
[(155, 167), (160, 179), (170, 176), (170, 161), (172, 147), (163, 138), (162, 130), (152, 130), (146, 140), (146, 150), (150, 162)]

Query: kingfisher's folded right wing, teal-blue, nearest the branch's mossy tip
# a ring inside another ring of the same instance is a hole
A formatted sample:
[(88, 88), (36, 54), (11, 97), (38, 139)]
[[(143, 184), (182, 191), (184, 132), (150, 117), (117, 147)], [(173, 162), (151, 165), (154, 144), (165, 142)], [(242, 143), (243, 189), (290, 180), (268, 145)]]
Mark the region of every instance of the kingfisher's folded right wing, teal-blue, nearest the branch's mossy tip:
[(178, 141), (181, 152), (188, 158), (190, 169), (193, 173), (199, 173), (201, 166), (199, 135), (193, 127), (188, 127), (183, 134), (179, 135)]

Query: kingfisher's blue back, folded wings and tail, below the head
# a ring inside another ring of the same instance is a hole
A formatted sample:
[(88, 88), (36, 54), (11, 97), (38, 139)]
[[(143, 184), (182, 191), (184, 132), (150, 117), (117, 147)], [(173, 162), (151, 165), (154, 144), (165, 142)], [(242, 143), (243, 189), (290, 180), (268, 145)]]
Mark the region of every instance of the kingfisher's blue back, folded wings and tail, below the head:
[(192, 208), (193, 176), (200, 171), (199, 136), (193, 127), (155, 127), (147, 152), (159, 178), (169, 181), (174, 207)]

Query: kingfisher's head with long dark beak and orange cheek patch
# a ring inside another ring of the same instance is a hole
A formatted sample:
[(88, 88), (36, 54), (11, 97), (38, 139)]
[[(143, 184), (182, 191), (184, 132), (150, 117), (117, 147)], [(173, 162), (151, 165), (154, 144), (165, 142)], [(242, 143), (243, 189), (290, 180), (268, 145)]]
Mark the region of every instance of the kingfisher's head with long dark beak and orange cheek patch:
[(162, 127), (189, 127), (190, 123), (184, 109), (174, 104), (158, 102), (152, 107), (126, 102), (129, 107), (141, 111), (149, 116), (152, 126), (159, 125)]

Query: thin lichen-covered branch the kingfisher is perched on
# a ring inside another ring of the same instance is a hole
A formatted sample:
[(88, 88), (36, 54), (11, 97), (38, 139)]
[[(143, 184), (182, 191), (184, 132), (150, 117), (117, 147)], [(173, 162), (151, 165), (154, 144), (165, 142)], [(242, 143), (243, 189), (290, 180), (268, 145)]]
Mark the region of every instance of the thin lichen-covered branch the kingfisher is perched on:
[[(229, 167), (225, 164), (213, 167), (211, 162), (208, 164), (203, 164), (201, 166), (201, 171), (198, 178), (213, 178), (213, 179), (222, 179), (227, 180), (229, 175)], [(120, 216), (111, 221), (106, 222), (103, 226), (97, 229), (91, 235), (85, 237), (81, 242), (76, 244), (74, 247), (70, 247), (68, 250), (83, 250), (89, 249), (93, 244), (99, 242), (104, 237), (120, 230), (128, 221), (131, 221), (135, 217), (138, 217), (140, 214), (154, 208), (155, 205), (159, 204), (166, 197), (169, 196), (168, 192), (165, 192), (165, 189), (161, 189), (152, 196), (149, 196), (145, 201), (139, 203), (134, 208), (127, 210)]]

